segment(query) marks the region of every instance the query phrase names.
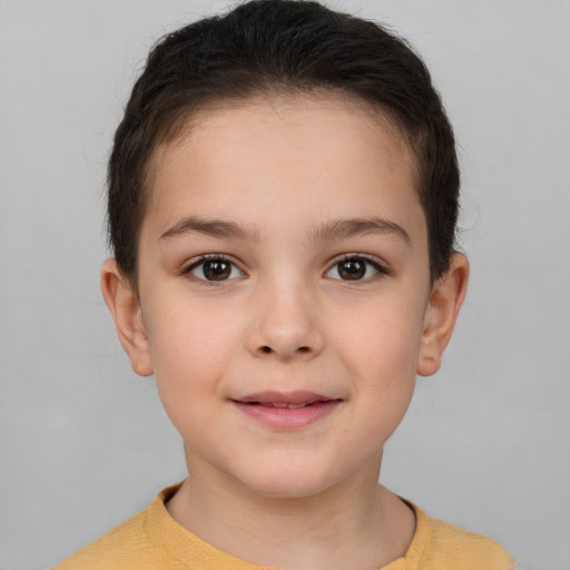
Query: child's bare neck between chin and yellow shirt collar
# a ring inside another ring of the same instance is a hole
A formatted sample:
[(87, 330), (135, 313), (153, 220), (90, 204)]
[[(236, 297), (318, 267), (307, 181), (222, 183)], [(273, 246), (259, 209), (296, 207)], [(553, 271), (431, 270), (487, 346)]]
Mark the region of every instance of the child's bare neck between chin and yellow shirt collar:
[[(377, 483), (380, 461), (317, 494), (273, 498), (191, 463), (167, 509), (216, 548), (287, 569), (381, 568), (405, 554), (412, 511)], [(294, 548), (289, 546), (294, 544)]]

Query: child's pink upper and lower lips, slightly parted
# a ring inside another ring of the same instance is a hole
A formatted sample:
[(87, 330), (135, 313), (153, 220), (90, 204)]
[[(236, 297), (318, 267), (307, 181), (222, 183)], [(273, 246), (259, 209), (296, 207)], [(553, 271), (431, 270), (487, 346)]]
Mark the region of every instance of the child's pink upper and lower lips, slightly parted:
[[(248, 417), (268, 428), (284, 431), (307, 428), (332, 413), (341, 402), (340, 399), (306, 391), (266, 391), (232, 400), (232, 403)], [(295, 407), (287, 407), (287, 404)]]

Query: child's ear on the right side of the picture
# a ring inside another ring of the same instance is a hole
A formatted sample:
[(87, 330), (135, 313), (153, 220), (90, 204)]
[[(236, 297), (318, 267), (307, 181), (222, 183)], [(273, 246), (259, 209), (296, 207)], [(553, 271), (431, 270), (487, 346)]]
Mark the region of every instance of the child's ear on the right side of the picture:
[(443, 351), (450, 342), (459, 309), (465, 298), (468, 279), (466, 257), (453, 254), (449, 271), (433, 284), (425, 311), (417, 358), (417, 374), (421, 376), (431, 376), (441, 365)]

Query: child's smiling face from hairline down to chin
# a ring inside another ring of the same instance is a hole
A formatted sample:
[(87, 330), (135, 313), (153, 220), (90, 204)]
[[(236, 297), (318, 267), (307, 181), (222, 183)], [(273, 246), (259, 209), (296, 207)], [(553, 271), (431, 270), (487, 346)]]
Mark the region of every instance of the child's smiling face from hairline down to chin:
[(275, 497), (376, 478), (449, 338), (403, 145), (334, 99), (254, 101), (200, 115), (153, 176), (121, 338), (190, 471)]

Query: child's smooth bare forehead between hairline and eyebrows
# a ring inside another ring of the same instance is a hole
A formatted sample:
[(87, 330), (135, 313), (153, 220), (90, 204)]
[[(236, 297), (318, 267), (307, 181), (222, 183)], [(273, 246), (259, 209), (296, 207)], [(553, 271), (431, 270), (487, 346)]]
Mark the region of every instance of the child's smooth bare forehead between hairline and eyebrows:
[(160, 226), (196, 210), (253, 225), (275, 209), (293, 225), (376, 207), (399, 223), (414, 224), (419, 212), (423, 218), (415, 161), (395, 124), (341, 97), (255, 98), (202, 110), (157, 148), (149, 173), (146, 218)]

